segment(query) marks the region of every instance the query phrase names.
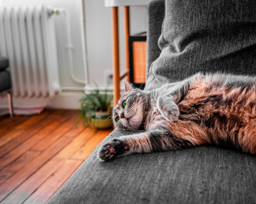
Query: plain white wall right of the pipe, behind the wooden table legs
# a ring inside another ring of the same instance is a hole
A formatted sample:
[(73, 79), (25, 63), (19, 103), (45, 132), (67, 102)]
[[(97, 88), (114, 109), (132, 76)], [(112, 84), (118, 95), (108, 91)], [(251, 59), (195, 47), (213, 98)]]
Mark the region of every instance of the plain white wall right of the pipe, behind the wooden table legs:
[[(112, 69), (111, 8), (101, 0), (84, 0), (88, 72), (90, 83), (94, 80), (105, 86), (104, 70)], [(146, 31), (146, 7), (130, 9), (130, 32)], [(125, 70), (123, 9), (119, 8), (120, 70)]]

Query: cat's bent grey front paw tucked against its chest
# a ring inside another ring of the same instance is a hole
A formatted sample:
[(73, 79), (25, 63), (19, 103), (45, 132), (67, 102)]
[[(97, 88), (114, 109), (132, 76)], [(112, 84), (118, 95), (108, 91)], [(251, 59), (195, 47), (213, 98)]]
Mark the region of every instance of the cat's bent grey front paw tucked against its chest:
[(166, 120), (176, 121), (179, 117), (179, 108), (169, 94), (160, 96), (156, 101), (156, 107)]

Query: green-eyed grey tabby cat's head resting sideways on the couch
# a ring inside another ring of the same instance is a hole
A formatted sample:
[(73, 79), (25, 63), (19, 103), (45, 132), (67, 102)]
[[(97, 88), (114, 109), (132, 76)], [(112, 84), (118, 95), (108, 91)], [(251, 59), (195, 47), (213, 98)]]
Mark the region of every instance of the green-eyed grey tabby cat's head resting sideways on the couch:
[(125, 90), (113, 109), (113, 123), (120, 129), (139, 129), (145, 117), (145, 93), (124, 81)]

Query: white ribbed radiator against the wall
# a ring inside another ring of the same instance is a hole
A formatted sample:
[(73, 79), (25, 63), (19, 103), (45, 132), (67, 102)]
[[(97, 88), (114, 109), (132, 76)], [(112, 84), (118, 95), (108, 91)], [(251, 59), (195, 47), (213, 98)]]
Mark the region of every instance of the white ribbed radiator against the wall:
[(0, 56), (10, 60), (15, 97), (52, 97), (60, 90), (53, 12), (0, 7)]

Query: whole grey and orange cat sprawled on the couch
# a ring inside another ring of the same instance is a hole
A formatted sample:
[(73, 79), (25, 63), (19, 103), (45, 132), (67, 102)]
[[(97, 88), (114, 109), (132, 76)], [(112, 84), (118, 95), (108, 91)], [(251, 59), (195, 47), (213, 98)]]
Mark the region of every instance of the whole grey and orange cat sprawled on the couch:
[(146, 132), (104, 143), (101, 161), (202, 144), (256, 153), (256, 78), (198, 73), (151, 91), (124, 85), (113, 122), (120, 129)]

